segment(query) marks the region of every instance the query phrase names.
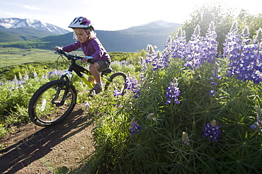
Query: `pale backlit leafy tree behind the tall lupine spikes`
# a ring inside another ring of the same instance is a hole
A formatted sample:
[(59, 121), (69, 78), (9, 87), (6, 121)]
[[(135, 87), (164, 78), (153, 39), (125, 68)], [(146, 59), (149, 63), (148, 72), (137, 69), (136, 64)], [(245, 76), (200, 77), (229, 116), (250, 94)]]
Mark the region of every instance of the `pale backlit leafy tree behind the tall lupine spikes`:
[(215, 2), (215, 4), (204, 4), (196, 8), (195, 11), (190, 14), (191, 19), (182, 25), (183, 30), (186, 31), (186, 40), (190, 40), (196, 25), (200, 25), (200, 33), (202, 36), (205, 36), (211, 21), (213, 21), (217, 32), (217, 52), (222, 53), (222, 44), (234, 22), (234, 15), (232, 13), (232, 9), (227, 9), (227, 11), (225, 11), (224, 6), (222, 6), (220, 2)]

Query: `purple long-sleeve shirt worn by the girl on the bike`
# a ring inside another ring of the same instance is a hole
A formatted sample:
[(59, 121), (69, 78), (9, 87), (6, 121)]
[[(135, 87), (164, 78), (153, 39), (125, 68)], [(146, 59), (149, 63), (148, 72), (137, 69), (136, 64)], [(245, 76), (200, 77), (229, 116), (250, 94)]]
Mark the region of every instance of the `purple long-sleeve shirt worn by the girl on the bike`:
[(91, 40), (87, 40), (84, 43), (79, 41), (74, 42), (72, 45), (67, 45), (62, 47), (65, 52), (72, 52), (81, 47), (82, 51), (86, 56), (93, 57), (94, 61), (98, 60), (108, 60), (110, 61), (110, 56), (106, 49), (103, 47), (101, 42), (97, 37), (93, 37)]

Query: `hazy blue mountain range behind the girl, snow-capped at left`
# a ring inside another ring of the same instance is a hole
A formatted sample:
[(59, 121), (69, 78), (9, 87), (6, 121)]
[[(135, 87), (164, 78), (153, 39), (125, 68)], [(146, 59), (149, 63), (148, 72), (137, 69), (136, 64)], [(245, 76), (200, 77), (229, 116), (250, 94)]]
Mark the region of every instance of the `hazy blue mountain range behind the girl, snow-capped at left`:
[[(148, 44), (164, 49), (170, 33), (179, 23), (154, 21), (133, 26), (125, 30), (96, 30), (96, 36), (108, 52), (137, 52)], [(12, 47), (12, 41), (38, 40), (41, 49), (50, 50), (55, 46), (74, 43), (73, 33), (58, 26), (32, 19), (0, 18), (0, 42), (3, 47)], [(6, 46), (5, 43), (6, 42)]]

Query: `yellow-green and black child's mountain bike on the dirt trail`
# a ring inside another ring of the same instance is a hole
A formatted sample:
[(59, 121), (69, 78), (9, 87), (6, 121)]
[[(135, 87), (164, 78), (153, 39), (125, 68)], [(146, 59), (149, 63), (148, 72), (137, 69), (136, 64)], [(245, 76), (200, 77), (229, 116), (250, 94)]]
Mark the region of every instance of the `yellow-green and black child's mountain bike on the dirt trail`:
[[(86, 74), (93, 78), (91, 72), (83, 66), (76, 64), (76, 61), (81, 61), (84, 57), (79, 57), (76, 54), (67, 54), (61, 50), (55, 53), (59, 54), (57, 64), (61, 57), (64, 63), (69, 66), (68, 70), (64, 71), (59, 79), (45, 83), (38, 88), (28, 104), (30, 120), (42, 127), (61, 122), (74, 109), (77, 93), (72, 83), (74, 77), (73, 72), (86, 83), (89, 89), (93, 88), (93, 85), (84, 76), (84, 74)], [(65, 57), (67, 57), (69, 61), (67, 61)], [(89, 59), (89, 64), (93, 63), (93, 59)], [(100, 71), (101, 82), (106, 83), (103, 90), (110, 91), (112, 95), (114, 91), (118, 91), (118, 95), (124, 95), (125, 88), (127, 88), (125, 84), (127, 76), (120, 71), (110, 76), (111, 73), (113, 73), (111, 68)]]

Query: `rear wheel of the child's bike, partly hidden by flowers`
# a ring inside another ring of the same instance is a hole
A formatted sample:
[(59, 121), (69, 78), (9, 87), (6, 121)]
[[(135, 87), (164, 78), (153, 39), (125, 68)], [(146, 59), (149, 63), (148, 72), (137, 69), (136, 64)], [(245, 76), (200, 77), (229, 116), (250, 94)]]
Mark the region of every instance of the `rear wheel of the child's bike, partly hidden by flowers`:
[(115, 72), (109, 77), (109, 82), (106, 82), (105, 91), (112, 91), (114, 95), (124, 95), (127, 85), (125, 80), (127, 76), (123, 72)]

